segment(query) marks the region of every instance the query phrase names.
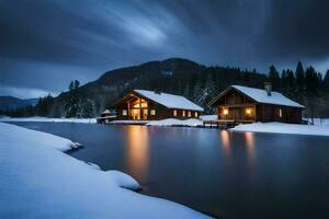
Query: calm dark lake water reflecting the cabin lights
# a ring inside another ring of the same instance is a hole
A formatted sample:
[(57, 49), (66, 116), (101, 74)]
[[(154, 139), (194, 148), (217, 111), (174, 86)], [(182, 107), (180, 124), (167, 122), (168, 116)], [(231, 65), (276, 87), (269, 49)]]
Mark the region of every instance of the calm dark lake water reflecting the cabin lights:
[(222, 218), (329, 218), (329, 138), (216, 129), (14, 123), (78, 141), (141, 193)]

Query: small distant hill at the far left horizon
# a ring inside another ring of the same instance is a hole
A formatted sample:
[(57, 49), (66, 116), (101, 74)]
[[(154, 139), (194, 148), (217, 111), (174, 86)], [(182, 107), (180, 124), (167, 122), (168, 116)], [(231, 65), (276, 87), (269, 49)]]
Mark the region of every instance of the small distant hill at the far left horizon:
[(38, 99), (21, 100), (14, 96), (0, 96), (0, 111), (16, 110), (25, 106), (35, 106)]

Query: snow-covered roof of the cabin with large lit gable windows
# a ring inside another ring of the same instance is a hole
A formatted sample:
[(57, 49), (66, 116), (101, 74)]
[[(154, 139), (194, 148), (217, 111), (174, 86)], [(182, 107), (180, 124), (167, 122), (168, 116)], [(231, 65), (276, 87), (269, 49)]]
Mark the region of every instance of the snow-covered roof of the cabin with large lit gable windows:
[(168, 107), (168, 108), (203, 111), (202, 107), (192, 103), (184, 96), (173, 95), (173, 94), (163, 93), (163, 92), (156, 93), (154, 91), (146, 91), (146, 90), (134, 90), (134, 91), (154, 102), (157, 102), (157, 103)]

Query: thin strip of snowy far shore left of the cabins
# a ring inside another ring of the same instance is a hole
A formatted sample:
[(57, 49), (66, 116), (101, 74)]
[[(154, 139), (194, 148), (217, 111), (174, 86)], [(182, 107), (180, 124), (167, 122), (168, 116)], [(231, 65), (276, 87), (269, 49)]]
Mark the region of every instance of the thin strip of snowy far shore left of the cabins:
[(0, 122), (97, 123), (95, 118), (0, 117)]

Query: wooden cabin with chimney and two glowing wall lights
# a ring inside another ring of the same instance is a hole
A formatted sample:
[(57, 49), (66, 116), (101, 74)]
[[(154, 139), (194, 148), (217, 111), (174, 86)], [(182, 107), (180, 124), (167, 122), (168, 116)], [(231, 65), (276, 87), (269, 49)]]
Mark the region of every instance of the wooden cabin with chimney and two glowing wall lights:
[(230, 85), (215, 97), (211, 107), (217, 107), (218, 120), (234, 123), (281, 122), (302, 123), (303, 105), (279, 92), (265, 89)]

